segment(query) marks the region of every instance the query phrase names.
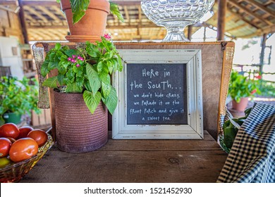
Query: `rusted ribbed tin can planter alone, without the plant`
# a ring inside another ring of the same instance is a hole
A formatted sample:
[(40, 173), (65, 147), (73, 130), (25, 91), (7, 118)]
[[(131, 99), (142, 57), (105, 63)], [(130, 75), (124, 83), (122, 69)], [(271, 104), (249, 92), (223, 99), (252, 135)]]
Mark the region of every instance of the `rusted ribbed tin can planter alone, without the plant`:
[(54, 108), (56, 141), (61, 151), (94, 151), (108, 141), (108, 112), (102, 101), (92, 115), (82, 94), (54, 91)]

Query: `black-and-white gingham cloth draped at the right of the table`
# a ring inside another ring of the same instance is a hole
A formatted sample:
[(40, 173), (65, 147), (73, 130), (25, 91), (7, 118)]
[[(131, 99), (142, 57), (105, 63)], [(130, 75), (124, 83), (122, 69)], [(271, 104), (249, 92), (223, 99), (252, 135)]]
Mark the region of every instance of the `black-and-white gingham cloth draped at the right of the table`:
[(240, 127), (217, 182), (275, 182), (275, 106), (257, 103)]

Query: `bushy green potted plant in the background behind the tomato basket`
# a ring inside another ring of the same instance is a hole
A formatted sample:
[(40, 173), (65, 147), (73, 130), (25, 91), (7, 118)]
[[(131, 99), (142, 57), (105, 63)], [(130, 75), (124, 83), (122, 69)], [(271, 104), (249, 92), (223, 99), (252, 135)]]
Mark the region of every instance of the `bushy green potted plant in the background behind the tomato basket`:
[(22, 115), (31, 115), (31, 110), (39, 113), (37, 108), (38, 84), (35, 78), (1, 77), (0, 84), (0, 125), (5, 122), (18, 124)]

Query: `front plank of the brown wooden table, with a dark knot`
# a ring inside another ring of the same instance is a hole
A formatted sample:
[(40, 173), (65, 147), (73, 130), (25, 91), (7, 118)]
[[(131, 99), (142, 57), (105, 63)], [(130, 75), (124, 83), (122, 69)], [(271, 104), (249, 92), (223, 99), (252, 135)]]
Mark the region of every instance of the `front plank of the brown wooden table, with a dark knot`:
[(216, 182), (222, 151), (52, 150), (21, 182)]

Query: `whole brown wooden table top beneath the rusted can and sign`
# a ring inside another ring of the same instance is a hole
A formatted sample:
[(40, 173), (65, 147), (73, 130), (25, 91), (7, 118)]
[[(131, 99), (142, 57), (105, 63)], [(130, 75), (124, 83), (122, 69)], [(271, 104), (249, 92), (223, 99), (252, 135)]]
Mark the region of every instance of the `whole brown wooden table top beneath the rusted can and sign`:
[(65, 153), (53, 146), (23, 183), (216, 182), (227, 154), (203, 140), (113, 140), (98, 151)]

